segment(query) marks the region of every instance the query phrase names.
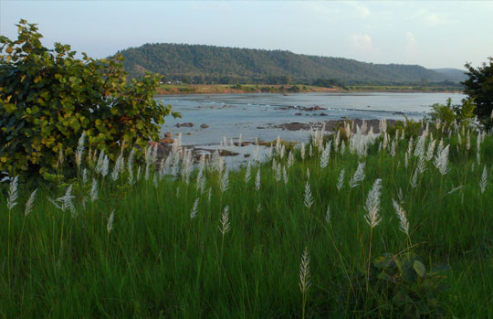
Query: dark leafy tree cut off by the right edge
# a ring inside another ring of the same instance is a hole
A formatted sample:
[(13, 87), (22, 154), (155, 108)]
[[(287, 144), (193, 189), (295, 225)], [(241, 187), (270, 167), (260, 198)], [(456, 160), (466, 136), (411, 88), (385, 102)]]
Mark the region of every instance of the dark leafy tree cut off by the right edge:
[(489, 63), (474, 69), (470, 63), (466, 64), (469, 79), (463, 84), (466, 93), (474, 99), (477, 108), (475, 113), (482, 120), (488, 119), (493, 111), (493, 58), (488, 58)]

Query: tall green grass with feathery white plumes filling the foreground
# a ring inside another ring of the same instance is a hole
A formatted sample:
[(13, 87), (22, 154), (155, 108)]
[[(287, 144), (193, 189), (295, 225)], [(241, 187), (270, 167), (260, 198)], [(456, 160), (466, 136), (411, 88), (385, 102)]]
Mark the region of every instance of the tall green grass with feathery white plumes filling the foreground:
[[(0, 315), (492, 316), (492, 136), (348, 126), (229, 172), (179, 144), (110, 164), (81, 138), (79, 178), (5, 185)], [(414, 280), (372, 275), (413, 254)], [(422, 275), (442, 264), (434, 293)]]

